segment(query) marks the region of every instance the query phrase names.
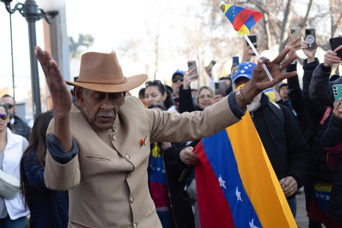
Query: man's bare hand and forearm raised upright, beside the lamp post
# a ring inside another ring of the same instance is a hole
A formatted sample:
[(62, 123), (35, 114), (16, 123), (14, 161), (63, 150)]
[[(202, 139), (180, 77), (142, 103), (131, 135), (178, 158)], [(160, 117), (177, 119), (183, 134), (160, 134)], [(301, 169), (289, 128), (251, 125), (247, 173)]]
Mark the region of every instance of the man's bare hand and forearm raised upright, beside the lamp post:
[(35, 53), (43, 68), (52, 97), (54, 109), (53, 134), (62, 149), (69, 152), (73, 146), (71, 142), (69, 119), (69, 112), (72, 104), (71, 94), (67, 89), (57, 63), (52, 58), (50, 52), (48, 50), (42, 51), (40, 47), (36, 46)]

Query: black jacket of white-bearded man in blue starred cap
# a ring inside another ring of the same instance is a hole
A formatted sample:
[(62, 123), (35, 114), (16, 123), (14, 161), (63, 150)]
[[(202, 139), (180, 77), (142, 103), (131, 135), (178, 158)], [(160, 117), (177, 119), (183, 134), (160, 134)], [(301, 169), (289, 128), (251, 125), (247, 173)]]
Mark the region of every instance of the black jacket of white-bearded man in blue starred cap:
[[(281, 117), (272, 111), (268, 96), (262, 94), (260, 107), (251, 112), (251, 117), (265, 147), (278, 180), (292, 176), (301, 188), (310, 167), (309, 147), (305, 143), (292, 112), (279, 105), (285, 118), (284, 126)], [(275, 106), (275, 108), (277, 108)], [(291, 198), (293, 198), (291, 196)]]

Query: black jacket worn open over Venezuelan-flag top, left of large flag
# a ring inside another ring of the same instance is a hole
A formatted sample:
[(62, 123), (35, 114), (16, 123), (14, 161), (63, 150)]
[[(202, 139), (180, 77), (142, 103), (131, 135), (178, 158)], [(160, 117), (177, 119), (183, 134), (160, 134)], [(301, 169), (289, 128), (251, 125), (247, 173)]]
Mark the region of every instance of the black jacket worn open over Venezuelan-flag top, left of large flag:
[[(160, 143), (159, 143), (160, 144)], [(154, 144), (152, 144), (154, 145)], [(176, 156), (178, 148), (184, 147), (185, 143), (172, 143), (172, 146), (167, 150), (163, 150), (160, 146), (160, 152), (166, 177), (166, 185), (169, 193), (170, 207), (169, 207), (169, 227), (177, 228), (195, 228), (194, 214), (192, 212), (190, 198), (184, 190), (185, 182), (179, 182), (179, 178), (182, 175), (184, 166), (179, 166), (177, 163)], [(152, 150), (153, 146), (151, 146)], [(149, 158), (149, 165), (151, 164), (151, 155)], [(185, 175), (190, 176), (191, 169)], [(149, 184), (148, 178), (148, 186)], [(176, 226), (175, 226), (176, 225)]]

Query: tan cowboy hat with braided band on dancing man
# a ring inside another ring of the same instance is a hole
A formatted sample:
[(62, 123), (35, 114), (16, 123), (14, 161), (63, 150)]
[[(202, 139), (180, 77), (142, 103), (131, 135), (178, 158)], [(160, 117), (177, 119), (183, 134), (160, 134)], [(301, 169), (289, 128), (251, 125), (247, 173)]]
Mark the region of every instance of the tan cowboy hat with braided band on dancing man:
[(147, 75), (124, 77), (115, 52), (87, 52), (81, 56), (79, 78), (75, 82), (65, 82), (90, 90), (118, 93), (134, 89), (146, 79)]

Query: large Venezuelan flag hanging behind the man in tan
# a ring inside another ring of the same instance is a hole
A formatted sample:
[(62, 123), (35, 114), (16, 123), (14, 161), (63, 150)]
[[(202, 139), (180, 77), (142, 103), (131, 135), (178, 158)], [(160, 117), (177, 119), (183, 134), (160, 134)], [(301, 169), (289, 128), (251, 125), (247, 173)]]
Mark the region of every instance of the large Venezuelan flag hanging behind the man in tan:
[(296, 228), (249, 115), (194, 149), (201, 228)]

